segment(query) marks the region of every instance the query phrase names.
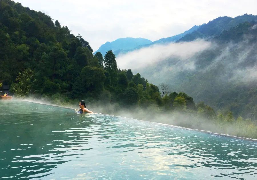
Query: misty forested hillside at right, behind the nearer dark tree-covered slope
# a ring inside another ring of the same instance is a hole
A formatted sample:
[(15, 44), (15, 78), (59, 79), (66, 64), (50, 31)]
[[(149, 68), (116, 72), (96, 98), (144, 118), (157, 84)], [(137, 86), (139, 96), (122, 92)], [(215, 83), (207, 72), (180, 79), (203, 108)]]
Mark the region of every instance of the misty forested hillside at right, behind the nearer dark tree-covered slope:
[[(151, 82), (164, 81), (176, 91), (183, 89), (216, 111), (256, 119), (256, 38), (256, 22), (241, 23), (210, 38), (211, 47), (193, 57), (170, 57), (139, 71)], [(186, 63), (193, 68), (176, 70)], [(167, 71), (167, 67), (175, 70)]]

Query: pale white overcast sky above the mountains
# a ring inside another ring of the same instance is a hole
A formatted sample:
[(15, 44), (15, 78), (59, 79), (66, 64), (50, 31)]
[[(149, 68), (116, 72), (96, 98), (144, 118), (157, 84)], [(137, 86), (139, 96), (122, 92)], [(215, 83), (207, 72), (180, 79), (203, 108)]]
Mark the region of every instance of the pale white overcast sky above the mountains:
[(256, 0), (15, 0), (68, 26), (97, 50), (107, 41), (133, 37), (158, 40), (220, 16), (257, 13)]

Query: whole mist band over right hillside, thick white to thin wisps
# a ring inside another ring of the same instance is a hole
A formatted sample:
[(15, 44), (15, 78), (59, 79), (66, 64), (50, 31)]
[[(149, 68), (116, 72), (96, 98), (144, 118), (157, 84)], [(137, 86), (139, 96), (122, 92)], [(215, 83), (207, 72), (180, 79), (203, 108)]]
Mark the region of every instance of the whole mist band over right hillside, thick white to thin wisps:
[[(153, 45), (117, 56), (121, 69), (139, 72), (151, 83), (176, 83), (181, 73), (202, 73), (216, 69), (215, 79), (223, 82), (257, 80), (256, 43), (250, 37), (238, 43), (218, 44), (198, 39), (192, 42)], [(185, 74), (186, 75), (186, 74)]]

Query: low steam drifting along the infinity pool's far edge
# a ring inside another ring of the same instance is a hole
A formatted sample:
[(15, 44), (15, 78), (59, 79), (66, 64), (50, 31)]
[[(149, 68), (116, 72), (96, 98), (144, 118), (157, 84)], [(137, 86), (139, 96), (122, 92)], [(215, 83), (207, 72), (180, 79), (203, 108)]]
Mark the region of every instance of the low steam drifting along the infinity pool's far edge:
[[(13, 100), (15, 100), (15, 98)], [(74, 109), (74, 113), (76, 113), (75, 109), (79, 109), (78, 107), (79, 102), (77, 102), (77, 104), (73, 103), (73, 104), (62, 105), (61, 103), (60, 104), (51, 103), (49, 100), (43, 99), (43, 98), (42, 99), (24, 98), (24, 99), (17, 99), (17, 100)], [(219, 127), (215, 124), (214, 121), (207, 120), (204, 118), (199, 118), (198, 116), (195, 116), (190, 112), (178, 112), (178, 111), (163, 112), (162, 109), (159, 108), (157, 105), (151, 105), (147, 109), (141, 109), (139, 107), (121, 108), (117, 103), (111, 104), (111, 103), (103, 103), (101, 101), (95, 101), (94, 103), (90, 103), (86, 101), (86, 103), (89, 104), (89, 110), (94, 111), (96, 113), (103, 113), (103, 114), (133, 118), (138, 120), (147, 120), (151, 122), (169, 124), (176, 127), (182, 127), (182, 128), (186, 127), (188, 129), (205, 131), (208, 133), (212, 133), (212, 132), (222, 133), (222, 131), (219, 129)], [(222, 128), (225, 129), (226, 132), (229, 132), (229, 134), (236, 133), (235, 129), (231, 128), (230, 125), (228, 126), (223, 125)], [(224, 133), (220, 135), (231, 136)], [(233, 136), (233, 137), (237, 137), (237, 136)], [(246, 139), (257, 141), (257, 139), (250, 139), (250, 138), (246, 138)]]

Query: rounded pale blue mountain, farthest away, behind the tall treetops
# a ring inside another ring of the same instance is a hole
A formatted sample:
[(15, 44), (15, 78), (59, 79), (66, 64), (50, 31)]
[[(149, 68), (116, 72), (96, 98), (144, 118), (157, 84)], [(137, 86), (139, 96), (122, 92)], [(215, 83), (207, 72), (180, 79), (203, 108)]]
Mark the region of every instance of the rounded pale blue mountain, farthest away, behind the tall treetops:
[(106, 54), (107, 51), (113, 50), (114, 54), (118, 54), (121, 51), (126, 51), (130, 49), (134, 49), (137, 46), (142, 46), (145, 44), (150, 44), (152, 41), (144, 38), (119, 38), (112, 42), (106, 42), (105, 44), (101, 45), (96, 52), (101, 52), (103, 56)]

